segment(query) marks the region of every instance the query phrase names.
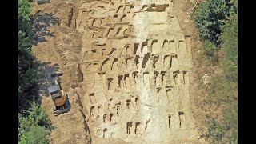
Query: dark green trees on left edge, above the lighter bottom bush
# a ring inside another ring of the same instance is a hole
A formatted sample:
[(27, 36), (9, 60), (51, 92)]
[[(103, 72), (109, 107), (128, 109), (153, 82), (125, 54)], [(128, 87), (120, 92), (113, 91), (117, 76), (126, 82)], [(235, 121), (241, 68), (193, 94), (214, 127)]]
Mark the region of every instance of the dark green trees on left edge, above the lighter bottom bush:
[(27, 0), (18, 1), (18, 30), (18, 109), (22, 113), (28, 110), (30, 101), (38, 99), (40, 82), (30, 51), (30, 2)]

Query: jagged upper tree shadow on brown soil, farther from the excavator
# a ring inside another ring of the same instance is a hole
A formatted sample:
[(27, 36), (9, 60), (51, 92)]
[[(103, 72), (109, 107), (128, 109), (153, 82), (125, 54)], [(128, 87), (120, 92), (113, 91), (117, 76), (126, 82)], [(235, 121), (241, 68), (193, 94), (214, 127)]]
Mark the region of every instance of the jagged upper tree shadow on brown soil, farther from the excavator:
[(41, 13), (38, 10), (33, 14), (30, 19), (32, 22), (32, 33), (30, 39), (33, 45), (38, 45), (39, 42), (47, 42), (46, 36), (54, 37), (54, 33), (47, 30), (49, 26), (59, 25), (59, 18), (54, 16), (52, 13)]

